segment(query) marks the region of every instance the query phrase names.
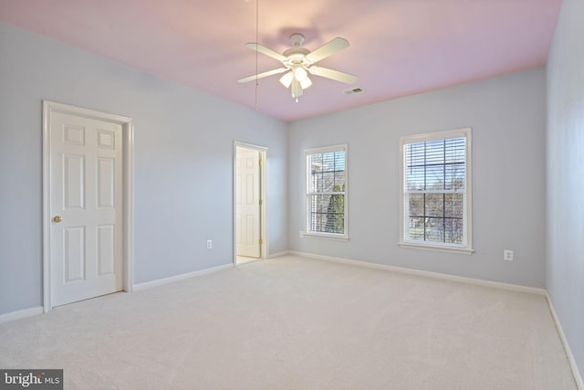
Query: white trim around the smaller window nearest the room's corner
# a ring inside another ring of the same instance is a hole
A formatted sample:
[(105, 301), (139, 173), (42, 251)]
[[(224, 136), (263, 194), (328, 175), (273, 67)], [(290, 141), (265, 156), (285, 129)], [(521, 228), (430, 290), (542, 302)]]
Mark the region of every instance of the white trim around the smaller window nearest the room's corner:
[[(326, 233), (326, 232), (315, 232), (308, 230), (308, 155), (318, 154), (318, 153), (333, 153), (333, 152), (344, 152), (345, 153), (345, 197), (343, 200), (344, 205), (344, 234), (339, 233)], [(301, 230), (302, 237), (313, 237), (313, 238), (325, 238), (333, 240), (349, 240), (349, 145), (339, 144), (332, 146), (325, 146), (320, 148), (312, 148), (304, 150), (304, 193), (302, 194), (302, 203), (304, 205), (304, 228)]]

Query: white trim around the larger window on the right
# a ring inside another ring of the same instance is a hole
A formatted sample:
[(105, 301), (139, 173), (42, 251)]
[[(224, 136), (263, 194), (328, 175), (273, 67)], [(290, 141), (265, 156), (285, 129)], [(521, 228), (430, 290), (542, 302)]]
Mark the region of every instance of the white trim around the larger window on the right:
[[(405, 191), (404, 191), (404, 178), (405, 178), (405, 166), (403, 162), (403, 146), (407, 143), (414, 143), (414, 142), (430, 142), (430, 141), (438, 141), (438, 140), (445, 140), (450, 138), (457, 138), (457, 137), (464, 137), (465, 138), (465, 169), (466, 169), (466, 177), (465, 177), (465, 196), (464, 201), (466, 203), (465, 212), (463, 215), (463, 226), (465, 227), (465, 237), (466, 237), (466, 244), (465, 245), (458, 245), (458, 244), (441, 244), (436, 242), (430, 243), (422, 243), (422, 242), (415, 242), (406, 240), (404, 235), (406, 233), (405, 228), (405, 220), (406, 217), (404, 216), (405, 212)], [(401, 248), (415, 248), (415, 249), (425, 249), (425, 250), (433, 250), (433, 251), (442, 251), (442, 252), (449, 252), (449, 253), (464, 253), (470, 255), (474, 253), (473, 249), (473, 190), (472, 190), (472, 129), (470, 127), (462, 128), (462, 129), (454, 129), (454, 130), (446, 130), (440, 132), (426, 132), (422, 134), (414, 134), (414, 135), (407, 135), (400, 137), (400, 144), (399, 144), (399, 169), (400, 169), (400, 237), (398, 245)]]

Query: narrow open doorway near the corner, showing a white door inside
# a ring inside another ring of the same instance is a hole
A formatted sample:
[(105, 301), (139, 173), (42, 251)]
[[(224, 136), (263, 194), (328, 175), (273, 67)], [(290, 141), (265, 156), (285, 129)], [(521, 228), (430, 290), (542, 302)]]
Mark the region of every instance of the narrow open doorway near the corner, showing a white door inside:
[(266, 258), (266, 148), (235, 142), (235, 265)]

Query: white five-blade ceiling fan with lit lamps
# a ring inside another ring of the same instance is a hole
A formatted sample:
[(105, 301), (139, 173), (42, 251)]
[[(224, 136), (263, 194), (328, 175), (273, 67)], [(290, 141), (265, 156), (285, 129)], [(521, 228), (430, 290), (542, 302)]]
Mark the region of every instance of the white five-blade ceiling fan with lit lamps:
[(296, 99), (296, 101), (298, 101), (298, 97), (302, 96), (303, 91), (312, 85), (312, 81), (308, 78), (308, 73), (327, 79), (345, 82), (347, 84), (357, 82), (357, 76), (355, 75), (314, 65), (321, 59), (328, 58), (339, 50), (349, 47), (349, 41), (347, 39), (336, 37), (314, 51), (302, 47), (302, 44), (304, 43), (304, 36), (302, 34), (292, 34), (290, 41), (292, 42), (293, 47), (288, 48), (283, 54), (279, 54), (271, 48), (262, 46), (258, 43), (245, 44), (246, 47), (256, 50), (258, 53), (277, 59), (282, 65), (284, 65), (284, 68), (268, 70), (244, 79), (238, 79), (237, 81), (248, 82), (286, 72), (286, 74), (280, 78), (280, 82), (286, 88), (291, 87), (292, 98)]

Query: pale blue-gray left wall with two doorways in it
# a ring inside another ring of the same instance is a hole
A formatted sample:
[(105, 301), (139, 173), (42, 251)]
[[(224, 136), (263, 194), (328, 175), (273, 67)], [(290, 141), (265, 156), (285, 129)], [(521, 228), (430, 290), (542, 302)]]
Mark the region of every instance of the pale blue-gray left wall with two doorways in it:
[(0, 24), (0, 314), (42, 304), (44, 99), (134, 119), (136, 283), (232, 261), (235, 140), (269, 148), (269, 250), (287, 250), (285, 122)]

